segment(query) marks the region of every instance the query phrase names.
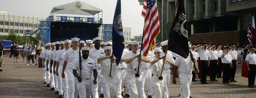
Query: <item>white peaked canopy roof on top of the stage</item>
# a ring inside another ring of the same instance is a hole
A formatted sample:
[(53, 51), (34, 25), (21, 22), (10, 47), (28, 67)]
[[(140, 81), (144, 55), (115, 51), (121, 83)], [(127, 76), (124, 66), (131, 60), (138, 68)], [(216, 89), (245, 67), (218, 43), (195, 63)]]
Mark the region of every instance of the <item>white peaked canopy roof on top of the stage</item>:
[(75, 1), (64, 5), (53, 7), (53, 14), (75, 14), (75, 15), (95, 15), (102, 12), (101, 9), (93, 7), (81, 1)]

